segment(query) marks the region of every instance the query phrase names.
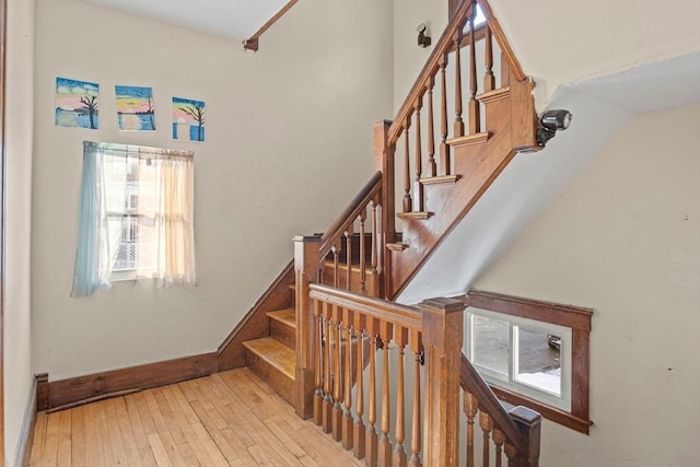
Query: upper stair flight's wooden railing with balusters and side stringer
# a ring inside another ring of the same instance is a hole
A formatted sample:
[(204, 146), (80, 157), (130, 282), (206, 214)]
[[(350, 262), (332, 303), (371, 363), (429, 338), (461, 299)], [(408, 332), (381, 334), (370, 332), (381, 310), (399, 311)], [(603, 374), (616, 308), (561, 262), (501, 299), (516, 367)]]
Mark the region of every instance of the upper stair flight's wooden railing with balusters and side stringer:
[[(477, 5), (487, 19), (479, 27)], [(401, 292), (517, 151), (538, 149), (532, 89), (486, 0), (462, 1), (394, 121), (375, 127), (385, 197), (402, 187), (399, 212), (384, 202), (385, 297)]]

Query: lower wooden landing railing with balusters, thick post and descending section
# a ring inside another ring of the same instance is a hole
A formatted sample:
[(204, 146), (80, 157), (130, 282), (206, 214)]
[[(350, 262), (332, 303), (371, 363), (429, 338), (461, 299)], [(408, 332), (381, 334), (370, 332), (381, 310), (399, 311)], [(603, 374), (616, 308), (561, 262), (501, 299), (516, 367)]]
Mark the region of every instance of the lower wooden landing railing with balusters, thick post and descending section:
[(511, 466), (537, 466), (539, 415), (506, 412), (466, 360), (460, 301), (417, 308), (323, 284), (310, 285), (310, 301), (313, 420), (368, 466), (456, 466), (460, 444), (467, 466), (490, 465), (491, 453), (497, 466), (503, 453)]

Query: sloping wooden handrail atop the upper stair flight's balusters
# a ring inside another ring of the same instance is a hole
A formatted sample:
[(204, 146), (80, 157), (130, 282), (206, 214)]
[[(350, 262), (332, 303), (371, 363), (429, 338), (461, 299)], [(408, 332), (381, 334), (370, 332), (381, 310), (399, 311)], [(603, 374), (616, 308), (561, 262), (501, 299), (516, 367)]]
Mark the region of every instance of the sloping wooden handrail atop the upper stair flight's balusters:
[(411, 87), (410, 93), (401, 104), (396, 117), (394, 118), (394, 122), (389, 127), (388, 131), (388, 144), (395, 144), (398, 137), (401, 135), (404, 126), (407, 119), (413, 113), (413, 104), (418, 101), (420, 96), (422, 96), (425, 92), (425, 82), (430, 79), (430, 77), (434, 75), (440, 66), (440, 60), (442, 60), (443, 56), (447, 54), (453, 46), (452, 37), (459, 31), (466, 20), (467, 12), (471, 8), (472, 0), (463, 0), (457, 7), (454, 16), (447, 24), (447, 27), (440, 36), (440, 40), (435, 44), (433, 51), (430, 54), (428, 61), (423, 66), (418, 79), (413, 82), (413, 86)]

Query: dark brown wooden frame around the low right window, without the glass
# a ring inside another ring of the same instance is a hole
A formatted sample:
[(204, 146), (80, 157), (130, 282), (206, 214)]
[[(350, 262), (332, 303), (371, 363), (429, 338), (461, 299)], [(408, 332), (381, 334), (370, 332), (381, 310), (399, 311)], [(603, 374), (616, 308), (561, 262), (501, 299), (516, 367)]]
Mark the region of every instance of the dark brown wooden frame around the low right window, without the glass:
[(593, 310), (478, 290), (470, 290), (464, 303), (467, 306), (466, 313), (471, 313), (468, 308), (475, 307), (571, 329), (570, 410), (536, 400), (513, 388), (499, 385), (492, 378), (489, 378), (489, 385), (493, 394), (505, 402), (529, 407), (548, 420), (588, 434), (588, 428), (593, 424), (590, 419), (590, 342)]

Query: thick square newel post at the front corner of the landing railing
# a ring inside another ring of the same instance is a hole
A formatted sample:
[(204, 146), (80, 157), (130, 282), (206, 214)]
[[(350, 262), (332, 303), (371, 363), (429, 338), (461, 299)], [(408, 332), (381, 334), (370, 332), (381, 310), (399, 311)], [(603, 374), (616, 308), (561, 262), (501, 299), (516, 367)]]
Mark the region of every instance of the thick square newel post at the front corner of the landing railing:
[(459, 362), (464, 303), (452, 299), (422, 302), (425, 349), (423, 465), (456, 466), (459, 460)]

